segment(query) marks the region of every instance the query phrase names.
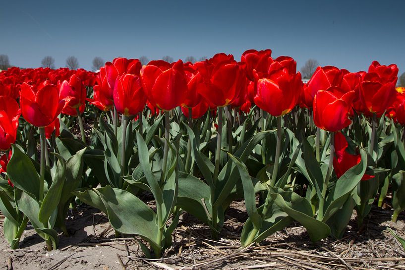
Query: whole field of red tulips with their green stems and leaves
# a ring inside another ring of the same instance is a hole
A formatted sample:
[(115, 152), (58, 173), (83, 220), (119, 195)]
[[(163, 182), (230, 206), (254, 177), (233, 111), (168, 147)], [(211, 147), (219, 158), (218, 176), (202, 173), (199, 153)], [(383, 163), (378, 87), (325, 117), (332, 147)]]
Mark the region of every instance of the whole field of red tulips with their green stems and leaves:
[(170, 249), (184, 213), (219, 239), (241, 201), (243, 248), (295, 223), (312, 242), (341, 239), (353, 211), (364, 228), (384, 202), (392, 221), (403, 218), (397, 66), (318, 67), (304, 84), (294, 59), (271, 54), (143, 66), (116, 58), (97, 73), (1, 71), (0, 211), (10, 249), (27, 224), (58, 249), (69, 211), (83, 205), (102, 211), (117, 237), (136, 237), (145, 258)]

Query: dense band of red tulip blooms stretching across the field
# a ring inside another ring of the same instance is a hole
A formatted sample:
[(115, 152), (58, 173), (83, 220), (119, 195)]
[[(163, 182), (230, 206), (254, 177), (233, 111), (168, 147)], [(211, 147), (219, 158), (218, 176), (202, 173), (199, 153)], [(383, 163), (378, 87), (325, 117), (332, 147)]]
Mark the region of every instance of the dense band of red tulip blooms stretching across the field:
[(138, 59), (116, 58), (100, 73), (66, 68), (51, 70), (10, 68), (1, 72), (3, 106), (0, 149), (15, 141), (20, 110), (37, 127), (51, 125), (61, 113), (83, 113), (86, 87), (94, 87), (90, 103), (101, 110), (113, 108), (136, 115), (147, 104), (152, 111), (181, 106), (186, 115), (201, 117), (208, 108), (231, 105), (248, 112), (251, 104), (281, 116), (296, 105), (312, 108), (315, 124), (338, 131), (351, 121), (348, 116), (388, 114), (405, 123), (405, 96), (396, 91), (398, 68), (374, 61), (368, 72), (350, 73), (333, 66), (318, 67), (308, 84), (302, 84), (296, 62), (288, 56), (271, 57), (271, 50), (248, 50), (237, 62), (232, 55), (216, 54), (196, 63), (163, 60), (141, 65)]

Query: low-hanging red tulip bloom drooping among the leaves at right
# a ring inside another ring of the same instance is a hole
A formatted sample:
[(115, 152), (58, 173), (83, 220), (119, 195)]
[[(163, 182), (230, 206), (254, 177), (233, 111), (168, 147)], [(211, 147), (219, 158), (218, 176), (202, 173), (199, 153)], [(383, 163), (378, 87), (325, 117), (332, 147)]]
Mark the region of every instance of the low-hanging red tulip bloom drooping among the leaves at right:
[[(335, 157), (333, 158), (333, 167), (336, 176), (340, 178), (351, 167), (357, 165), (361, 161), (360, 154), (351, 155), (347, 152), (348, 143), (345, 135), (341, 132), (335, 133)], [(361, 180), (368, 180), (374, 175), (364, 174)]]

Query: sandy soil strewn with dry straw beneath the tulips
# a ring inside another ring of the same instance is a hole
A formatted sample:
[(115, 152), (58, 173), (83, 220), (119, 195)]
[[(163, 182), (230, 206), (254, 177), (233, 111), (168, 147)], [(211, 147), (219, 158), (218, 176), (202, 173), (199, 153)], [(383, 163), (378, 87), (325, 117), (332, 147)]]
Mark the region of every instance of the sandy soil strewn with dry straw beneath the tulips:
[[(152, 205), (152, 202), (148, 204)], [(392, 211), (373, 206), (371, 216), (358, 233), (355, 213), (341, 240), (327, 238), (312, 243), (305, 228), (293, 223), (266, 238), (260, 245), (240, 247), (238, 236), (247, 216), (243, 201), (234, 202), (226, 213), (220, 239), (211, 239), (210, 229), (188, 214), (180, 217), (174, 243), (160, 260), (144, 257), (133, 238), (116, 238), (107, 217), (97, 209), (79, 206), (66, 221), (70, 237), (61, 234), (58, 250), (47, 252), (30, 225), (20, 249), (10, 251), (0, 243), (0, 269), (404, 269), (405, 251), (386, 230), (390, 227), (405, 237), (405, 215), (397, 223)], [(0, 217), (1, 225), (3, 216)], [(78, 228), (75, 230), (74, 228)], [(0, 230), (0, 237), (3, 236)], [(128, 251), (127, 251), (128, 250)], [(127, 256), (127, 254), (130, 256)], [(118, 259), (119, 257), (119, 259)]]

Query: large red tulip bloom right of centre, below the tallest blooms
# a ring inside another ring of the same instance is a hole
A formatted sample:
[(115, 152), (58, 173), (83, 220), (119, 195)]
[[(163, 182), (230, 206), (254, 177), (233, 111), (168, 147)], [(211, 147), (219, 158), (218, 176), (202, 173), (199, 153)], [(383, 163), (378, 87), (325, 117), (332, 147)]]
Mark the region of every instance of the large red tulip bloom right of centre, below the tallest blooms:
[(259, 79), (254, 103), (273, 116), (282, 116), (294, 108), (301, 96), (301, 74), (295, 73), (292, 58), (278, 58), (269, 68), (266, 78)]

